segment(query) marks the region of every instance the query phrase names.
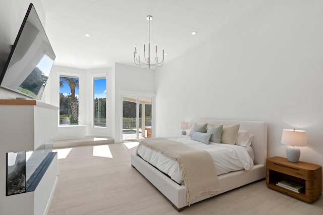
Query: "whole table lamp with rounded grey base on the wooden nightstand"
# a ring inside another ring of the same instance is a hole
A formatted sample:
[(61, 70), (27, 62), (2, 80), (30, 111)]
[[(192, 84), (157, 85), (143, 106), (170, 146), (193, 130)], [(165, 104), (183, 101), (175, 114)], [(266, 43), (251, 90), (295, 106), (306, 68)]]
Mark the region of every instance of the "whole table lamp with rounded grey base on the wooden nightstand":
[(297, 163), (301, 155), (301, 151), (297, 146), (306, 146), (306, 131), (284, 129), (281, 143), (289, 145), (286, 148), (287, 159), (290, 162)]

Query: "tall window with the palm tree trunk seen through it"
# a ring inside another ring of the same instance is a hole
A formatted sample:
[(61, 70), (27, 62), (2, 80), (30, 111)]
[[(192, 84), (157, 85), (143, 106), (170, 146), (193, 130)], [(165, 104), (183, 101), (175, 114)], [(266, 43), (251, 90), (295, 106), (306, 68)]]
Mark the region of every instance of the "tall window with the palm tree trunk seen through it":
[(79, 124), (79, 78), (60, 76), (60, 125)]

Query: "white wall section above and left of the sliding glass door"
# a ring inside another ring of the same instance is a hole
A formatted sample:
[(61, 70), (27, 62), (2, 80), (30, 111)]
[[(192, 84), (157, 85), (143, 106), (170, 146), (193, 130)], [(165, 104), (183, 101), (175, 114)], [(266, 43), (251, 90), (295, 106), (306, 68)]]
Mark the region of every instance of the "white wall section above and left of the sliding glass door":
[(121, 93), (155, 94), (155, 71), (153, 69), (115, 65), (115, 142), (122, 136), (122, 96)]

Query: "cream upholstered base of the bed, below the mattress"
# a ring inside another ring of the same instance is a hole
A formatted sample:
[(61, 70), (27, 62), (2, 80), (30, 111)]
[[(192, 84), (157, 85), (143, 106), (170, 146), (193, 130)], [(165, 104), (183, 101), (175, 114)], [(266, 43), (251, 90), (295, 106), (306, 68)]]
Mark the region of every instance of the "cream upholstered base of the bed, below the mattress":
[[(141, 157), (131, 154), (131, 164), (137, 169), (151, 184), (153, 184), (161, 193), (164, 194), (178, 211), (184, 210), (188, 206), (186, 201), (186, 187), (179, 185), (151, 166)], [(220, 191), (215, 195), (201, 195), (192, 201), (198, 201), (219, 195), (229, 190), (241, 187), (254, 181), (264, 178), (265, 167), (263, 165), (255, 165), (251, 170), (236, 171), (220, 175), (219, 185)], [(238, 180), (237, 180), (238, 179)]]

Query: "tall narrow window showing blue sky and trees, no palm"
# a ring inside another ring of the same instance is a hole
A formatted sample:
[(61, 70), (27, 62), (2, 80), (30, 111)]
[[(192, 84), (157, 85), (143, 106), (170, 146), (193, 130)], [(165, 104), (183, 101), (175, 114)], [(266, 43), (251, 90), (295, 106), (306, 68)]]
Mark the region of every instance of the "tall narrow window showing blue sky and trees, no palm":
[(93, 79), (93, 126), (106, 127), (106, 78)]

